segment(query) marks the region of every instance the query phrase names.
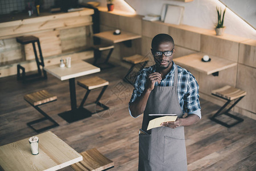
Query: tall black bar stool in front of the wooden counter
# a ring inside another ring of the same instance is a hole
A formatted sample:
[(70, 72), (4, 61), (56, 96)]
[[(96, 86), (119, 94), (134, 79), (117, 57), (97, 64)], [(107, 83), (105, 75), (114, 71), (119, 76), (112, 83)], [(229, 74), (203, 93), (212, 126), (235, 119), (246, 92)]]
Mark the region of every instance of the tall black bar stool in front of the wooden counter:
[[(28, 78), (41, 77), (42, 76), (42, 71), (40, 69), (40, 66), (44, 67), (44, 62), (43, 62), (43, 55), (42, 55), (42, 51), (41, 51), (41, 47), (40, 47), (39, 38), (37, 38), (35, 36), (21, 36), (21, 37), (16, 38), (16, 40), (17, 40), (18, 43), (21, 43), (21, 44), (32, 43), (34, 54), (35, 54), (35, 61), (36, 61), (36, 65), (37, 65), (37, 68), (38, 68), (38, 74), (33, 74), (33, 75), (26, 76), (25, 68), (22, 67), (20, 64), (18, 64), (17, 65), (17, 80), (22, 79), (23, 82), (25, 82), (26, 79), (28, 79)], [(35, 42), (38, 45), (40, 61), (38, 59), (38, 55), (37, 55), (37, 52), (36, 52)], [(22, 71), (22, 76), (21, 76), (20, 71)], [(46, 74), (46, 71), (44, 71), (44, 70), (43, 70), (43, 78), (47, 79), (47, 74)]]

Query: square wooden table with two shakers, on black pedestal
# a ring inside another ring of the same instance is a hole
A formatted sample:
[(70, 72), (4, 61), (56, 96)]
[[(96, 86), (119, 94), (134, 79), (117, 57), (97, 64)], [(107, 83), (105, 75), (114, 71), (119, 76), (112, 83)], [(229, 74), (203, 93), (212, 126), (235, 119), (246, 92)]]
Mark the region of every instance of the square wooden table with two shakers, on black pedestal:
[[(75, 60), (71, 62), (71, 68), (60, 68), (59, 64), (44, 67), (44, 70), (56, 76), (60, 80), (69, 80), (70, 82), (70, 102), (71, 111), (59, 113), (59, 116), (66, 120), (68, 123), (90, 117), (91, 114), (84, 108), (77, 108), (76, 106), (76, 89), (75, 78), (79, 76), (93, 74), (100, 72), (100, 68), (93, 66), (83, 60)], [(87, 113), (87, 115), (86, 115)]]

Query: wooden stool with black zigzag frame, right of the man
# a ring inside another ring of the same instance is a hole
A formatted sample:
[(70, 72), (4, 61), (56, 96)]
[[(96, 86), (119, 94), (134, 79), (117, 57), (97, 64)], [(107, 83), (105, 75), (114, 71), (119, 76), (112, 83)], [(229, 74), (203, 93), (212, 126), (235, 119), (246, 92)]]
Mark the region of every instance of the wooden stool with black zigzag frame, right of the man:
[[(232, 115), (229, 113), (230, 109), (233, 108), (245, 95), (246, 92), (242, 91), (241, 89), (237, 89), (231, 86), (224, 86), (219, 89), (214, 89), (212, 91), (212, 95), (220, 97), (221, 99), (227, 100), (227, 102), (218, 110), (217, 113), (213, 115), (210, 119), (215, 121), (218, 124), (224, 125), (227, 128), (233, 127), (234, 125), (241, 123), (243, 121), (242, 118), (237, 117), (235, 115)], [(237, 100), (236, 100), (237, 99)], [(225, 112), (221, 113), (221, 111), (233, 100), (236, 100), (233, 105), (231, 105), (230, 108), (228, 108)], [(221, 114), (220, 114), (221, 113)], [(233, 119), (237, 120), (233, 124), (227, 124), (224, 121), (218, 120), (216, 117), (220, 115), (226, 115), (229, 117), (232, 117)]]

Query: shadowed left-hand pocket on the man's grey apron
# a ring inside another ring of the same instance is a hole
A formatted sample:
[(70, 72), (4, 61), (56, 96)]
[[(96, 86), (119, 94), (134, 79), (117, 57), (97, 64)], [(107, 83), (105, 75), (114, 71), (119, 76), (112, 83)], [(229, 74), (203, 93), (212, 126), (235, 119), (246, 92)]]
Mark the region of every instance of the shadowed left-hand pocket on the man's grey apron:
[(141, 159), (149, 160), (151, 149), (151, 135), (139, 134), (139, 156)]

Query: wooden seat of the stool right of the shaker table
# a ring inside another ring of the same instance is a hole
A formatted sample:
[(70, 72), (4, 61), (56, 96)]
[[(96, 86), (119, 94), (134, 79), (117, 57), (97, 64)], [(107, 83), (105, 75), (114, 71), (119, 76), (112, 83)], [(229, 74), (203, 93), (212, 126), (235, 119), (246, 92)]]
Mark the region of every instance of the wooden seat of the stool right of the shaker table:
[(82, 86), (86, 89), (95, 89), (95, 88), (107, 86), (108, 82), (106, 80), (103, 80), (103, 79), (97, 77), (97, 76), (94, 76), (92, 78), (79, 80), (78, 85)]

